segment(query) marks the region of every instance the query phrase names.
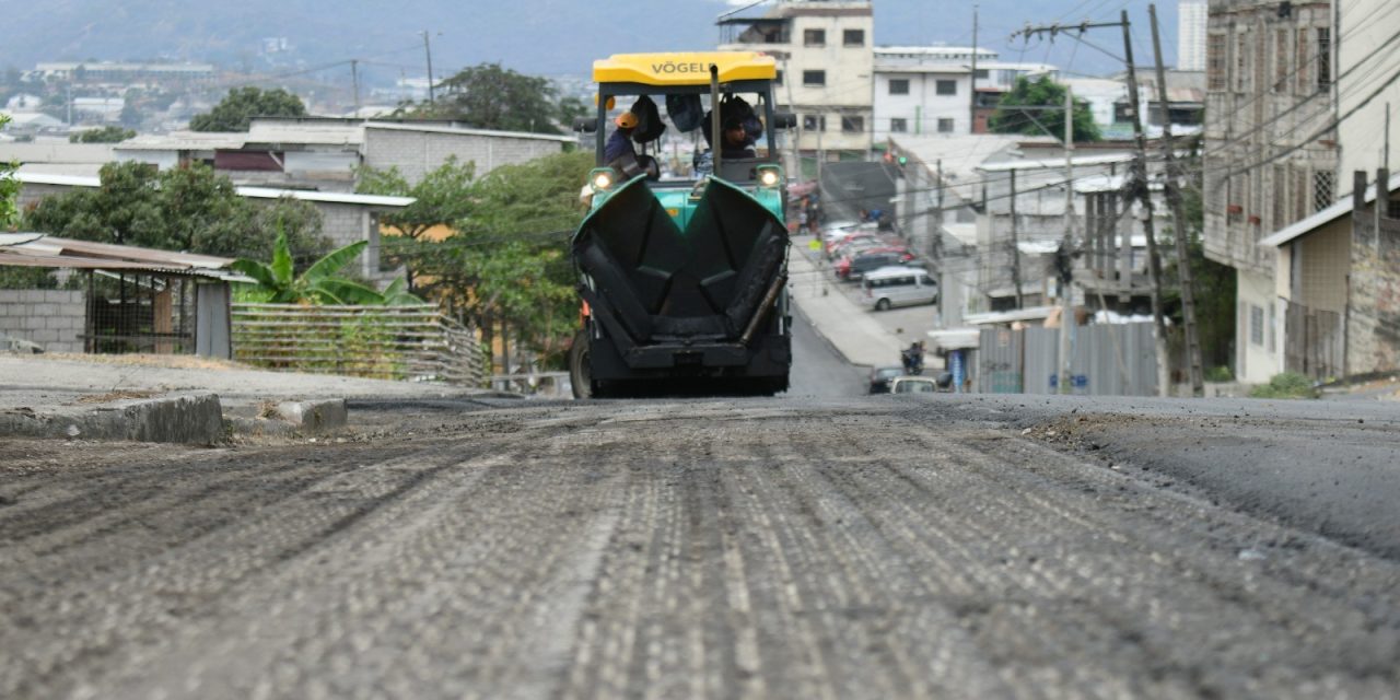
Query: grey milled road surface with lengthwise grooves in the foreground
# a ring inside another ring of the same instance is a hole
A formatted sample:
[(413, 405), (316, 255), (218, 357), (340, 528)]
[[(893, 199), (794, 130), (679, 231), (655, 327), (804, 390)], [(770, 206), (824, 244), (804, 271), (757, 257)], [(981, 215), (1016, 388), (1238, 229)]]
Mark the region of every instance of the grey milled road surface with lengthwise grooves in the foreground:
[(932, 410), (0, 445), (0, 697), (1397, 696), (1393, 561)]

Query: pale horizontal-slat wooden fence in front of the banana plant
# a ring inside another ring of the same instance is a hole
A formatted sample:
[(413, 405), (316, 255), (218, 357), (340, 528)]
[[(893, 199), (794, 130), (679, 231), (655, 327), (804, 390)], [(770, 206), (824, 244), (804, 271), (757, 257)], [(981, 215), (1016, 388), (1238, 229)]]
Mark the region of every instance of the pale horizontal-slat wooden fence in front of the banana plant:
[(234, 360), (269, 370), (484, 386), (476, 335), (431, 304), (234, 304)]

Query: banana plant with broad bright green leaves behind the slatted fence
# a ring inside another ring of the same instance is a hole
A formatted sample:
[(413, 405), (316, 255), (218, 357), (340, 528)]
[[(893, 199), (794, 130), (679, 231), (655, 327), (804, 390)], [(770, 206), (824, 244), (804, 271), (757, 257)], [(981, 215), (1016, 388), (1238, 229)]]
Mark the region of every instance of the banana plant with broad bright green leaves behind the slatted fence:
[(297, 276), (291, 265), (287, 235), (277, 234), (272, 265), (239, 258), (234, 260), (232, 269), (252, 277), (258, 283), (256, 293), (269, 304), (398, 305), (421, 302), (403, 290), (403, 280), (395, 280), (384, 293), (378, 293), (354, 280), (336, 276), (364, 251), (365, 245), (368, 244), (357, 241), (337, 248)]

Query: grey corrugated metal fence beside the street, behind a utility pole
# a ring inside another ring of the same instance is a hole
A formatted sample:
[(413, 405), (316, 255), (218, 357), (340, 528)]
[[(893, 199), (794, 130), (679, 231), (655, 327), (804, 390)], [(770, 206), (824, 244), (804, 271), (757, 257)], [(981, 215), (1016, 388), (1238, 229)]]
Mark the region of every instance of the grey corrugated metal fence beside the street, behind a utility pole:
[[(1151, 323), (1074, 328), (1071, 393), (1155, 396), (1156, 347)], [(1060, 329), (984, 329), (977, 347), (977, 391), (1058, 393)]]

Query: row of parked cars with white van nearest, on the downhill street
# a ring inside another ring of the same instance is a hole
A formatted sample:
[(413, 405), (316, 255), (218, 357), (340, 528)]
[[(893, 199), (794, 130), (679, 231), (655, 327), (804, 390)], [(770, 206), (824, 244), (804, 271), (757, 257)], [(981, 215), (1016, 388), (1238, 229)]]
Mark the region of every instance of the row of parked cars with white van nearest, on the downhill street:
[(822, 244), (836, 277), (861, 283), (861, 297), (872, 309), (938, 302), (938, 283), (928, 270), (913, 265), (914, 252), (876, 224), (829, 224), (822, 230)]

